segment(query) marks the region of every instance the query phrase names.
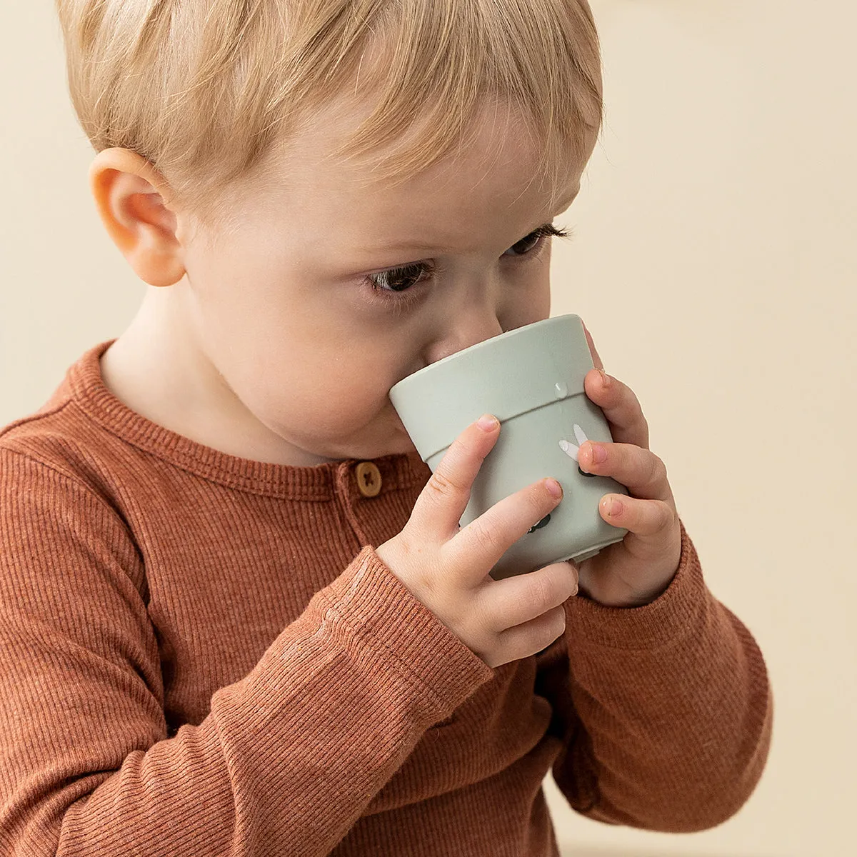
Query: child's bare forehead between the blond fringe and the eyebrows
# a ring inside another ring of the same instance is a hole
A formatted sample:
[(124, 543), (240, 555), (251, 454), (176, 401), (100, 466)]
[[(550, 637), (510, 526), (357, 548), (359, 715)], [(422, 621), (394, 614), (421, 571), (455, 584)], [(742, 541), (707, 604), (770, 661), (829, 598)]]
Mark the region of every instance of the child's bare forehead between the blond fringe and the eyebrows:
[(249, 203), (242, 220), (249, 232), (283, 237), (301, 253), (310, 252), (310, 236), (312, 246), (335, 244), (355, 270), (428, 253), (501, 252), (552, 222), (579, 189), (579, 175), (562, 187), (548, 186), (522, 174), (512, 160), (502, 169), (484, 159), (476, 159), (476, 169), (451, 161), (398, 185), (362, 183), (365, 172), (344, 173), (322, 163), (310, 162), (293, 188), (272, 192), (261, 205)]

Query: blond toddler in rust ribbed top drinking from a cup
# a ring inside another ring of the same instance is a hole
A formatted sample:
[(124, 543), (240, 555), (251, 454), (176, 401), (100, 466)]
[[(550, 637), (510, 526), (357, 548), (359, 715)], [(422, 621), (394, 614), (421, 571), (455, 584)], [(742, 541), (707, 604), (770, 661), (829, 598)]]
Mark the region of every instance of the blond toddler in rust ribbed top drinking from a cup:
[(579, 566), (491, 578), (558, 486), (460, 527), (500, 428), (433, 475), (387, 396), (548, 318), (601, 123), (585, 0), (57, 9), (147, 292), (0, 431), (0, 854), (547, 857), (548, 771), (608, 824), (737, 812), (764, 661), (591, 339), (614, 443), (579, 462), (629, 532)]

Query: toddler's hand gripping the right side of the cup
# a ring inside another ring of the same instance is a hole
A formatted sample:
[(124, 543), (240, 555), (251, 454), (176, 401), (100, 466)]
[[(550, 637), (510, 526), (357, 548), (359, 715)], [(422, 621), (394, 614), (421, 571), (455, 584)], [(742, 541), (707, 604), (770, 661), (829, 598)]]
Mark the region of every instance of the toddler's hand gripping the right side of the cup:
[[(605, 494), (598, 512), (608, 524), (628, 530), (621, 542), (603, 548), (590, 560), (580, 563), (580, 589), (594, 601), (608, 607), (638, 607), (654, 601), (679, 567), (681, 530), (667, 469), (660, 458), (649, 451), (649, 424), (636, 395), (621, 381), (608, 378), (605, 387), (604, 364), (586, 330), (592, 369), (584, 379), (586, 395), (604, 411), (610, 424), (613, 443), (585, 442), (578, 452), (582, 470), (598, 476), (611, 476), (624, 485), (631, 496)], [(601, 447), (604, 461), (595, 463), (593, 452)], [(620, 505), (610, 509), (611, 500)]]

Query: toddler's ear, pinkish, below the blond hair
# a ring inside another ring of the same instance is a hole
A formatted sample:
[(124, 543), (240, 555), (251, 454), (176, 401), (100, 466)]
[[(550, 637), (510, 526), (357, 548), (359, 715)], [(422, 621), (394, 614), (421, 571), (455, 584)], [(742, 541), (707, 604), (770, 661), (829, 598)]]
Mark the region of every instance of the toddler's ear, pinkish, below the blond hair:
[(170, 187), (153, 165), (129, 149), (99, 152), (89, 185), (105, 229), (136, 275), (149, 285), (184, 276), (177, 216), (167, 207)]

